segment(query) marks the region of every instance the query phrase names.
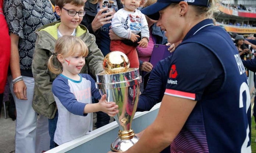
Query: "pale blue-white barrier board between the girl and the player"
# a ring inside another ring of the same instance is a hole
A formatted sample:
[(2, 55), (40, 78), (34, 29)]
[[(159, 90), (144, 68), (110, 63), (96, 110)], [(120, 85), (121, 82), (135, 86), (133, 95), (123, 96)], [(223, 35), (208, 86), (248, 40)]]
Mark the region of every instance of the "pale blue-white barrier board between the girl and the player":
[[(135, 113), (132, 120), (132, 129), (135, 133), (139, 133), (153, 123), (160, 105), (161, 103), (157, 103), (150, 111)], [(117, 138), (118, 130), (117, 122), (112, 122), (93, 130), (89, 135), (64, 143), (46, 153), (107, 153), (110, 151), (110, 144)]]

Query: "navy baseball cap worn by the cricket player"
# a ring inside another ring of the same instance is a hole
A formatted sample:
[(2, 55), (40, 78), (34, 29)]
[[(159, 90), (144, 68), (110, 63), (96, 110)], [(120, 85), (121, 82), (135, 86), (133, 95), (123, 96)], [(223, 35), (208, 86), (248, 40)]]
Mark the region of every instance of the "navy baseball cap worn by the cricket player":
[(210, 7), (209, 0), (157, 0), (156, 3), (149, 5), (141, 10), (141, 12), (147, 15), (150, 19), (158, 20), (160, 10), (164, 9), (172, 3), (179, 3), (185, 1), (191, 5)]

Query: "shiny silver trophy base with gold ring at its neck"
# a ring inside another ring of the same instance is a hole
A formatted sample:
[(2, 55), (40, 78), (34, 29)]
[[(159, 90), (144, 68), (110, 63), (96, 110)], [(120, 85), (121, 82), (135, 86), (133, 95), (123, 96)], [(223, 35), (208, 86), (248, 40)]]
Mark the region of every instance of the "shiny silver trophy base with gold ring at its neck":
[(118, 132), (118, 138), (110, 145), (111, 152), (125, 152), (139, 140), (133, 130)]

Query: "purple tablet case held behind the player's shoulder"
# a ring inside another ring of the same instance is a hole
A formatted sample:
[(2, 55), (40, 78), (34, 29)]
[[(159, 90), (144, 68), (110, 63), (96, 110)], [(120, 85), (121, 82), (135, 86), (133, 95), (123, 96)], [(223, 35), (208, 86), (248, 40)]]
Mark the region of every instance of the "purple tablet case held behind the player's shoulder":
[(170, 53), (170, 51), (168, 51), (169, 47), (170, 46), (154, 44), (152, 55), (149, 61), (153, 65), (153, 67), (156, 66), (156, 64), (160, 60), (163, 60), (166, 57), (173, 55), (173, 52)]

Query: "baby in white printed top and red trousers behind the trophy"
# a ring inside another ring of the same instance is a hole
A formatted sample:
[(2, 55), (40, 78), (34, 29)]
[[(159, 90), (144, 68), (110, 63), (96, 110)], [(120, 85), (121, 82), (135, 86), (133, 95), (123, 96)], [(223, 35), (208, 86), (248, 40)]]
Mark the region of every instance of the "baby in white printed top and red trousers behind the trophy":
[(110, 51), (125, 53), (130, 60), (130, 68), (139, 68), (136, 48), (137, 45), (142, 48), (147, 47), (149, 27), (145, 15), (137, 10), (141, 3), (140, 0), (121, 0), (121, 2), (124, 8), (114, 14), (111, 29), (117, 36), (126, 40), (111, 40)]

